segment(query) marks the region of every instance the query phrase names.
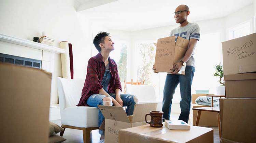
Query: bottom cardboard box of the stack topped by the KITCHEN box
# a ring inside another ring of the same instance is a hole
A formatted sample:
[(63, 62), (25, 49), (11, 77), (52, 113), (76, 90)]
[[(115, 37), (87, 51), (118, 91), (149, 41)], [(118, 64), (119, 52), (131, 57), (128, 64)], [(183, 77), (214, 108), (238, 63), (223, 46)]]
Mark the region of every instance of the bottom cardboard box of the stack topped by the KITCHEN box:
[(222, 143), (256, 142), (256, 99), (220, 99)]

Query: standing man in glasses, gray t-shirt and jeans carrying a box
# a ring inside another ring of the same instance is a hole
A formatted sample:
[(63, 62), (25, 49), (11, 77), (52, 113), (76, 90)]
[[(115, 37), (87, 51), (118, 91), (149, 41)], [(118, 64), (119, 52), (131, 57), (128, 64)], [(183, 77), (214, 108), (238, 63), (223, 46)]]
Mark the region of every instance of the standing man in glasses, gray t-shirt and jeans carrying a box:
[[(172, 98), (175, 92), (177, 85), (180, 83), (180, 92), (181, 92), (181, 114), (179, 120), (183, 120), (188, 123), (190, 106), (191, 106), (191, 84), (195, 72), (195, 59), (194, 59), (194, 50), (196, 47), (197, 41), (200, 38), (200, 29), (198, 24), (189, 23), (187, 21), (187, 16), (189, 15), (189, 8), (186, 5), (180, 5), (176, 8), (173, 13), (176, 23), (180, 23), (179, 27), (173, 29), (170, 33), (170, 36), (180, 36), (182, 38), (188, 39), (189, 44), (187, 51), (181, 61), (176, 62), (172, 70), (173, 74), (167, 74), (165, 87), (163, 89), (163, 118), (170, 119), (171, 107), (172, 107)], [(186, 63), (185, 75), (176, 75)], [(153, 69), (155, 69), (153, 67)]]

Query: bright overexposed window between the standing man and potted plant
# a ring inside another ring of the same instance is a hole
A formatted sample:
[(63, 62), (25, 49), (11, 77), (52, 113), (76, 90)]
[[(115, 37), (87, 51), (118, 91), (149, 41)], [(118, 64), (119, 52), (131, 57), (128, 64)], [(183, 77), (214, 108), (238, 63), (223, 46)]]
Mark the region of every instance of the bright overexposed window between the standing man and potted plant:
[[(219, 86), (218, 77), (214, 77), (214, 66), (222, 61), (221, 33), (201, 34), (195, 49), (195, 74), (192, 93), (195, 90), (209, 90)], [(211, 92), (210, 90), (210, 92)]]

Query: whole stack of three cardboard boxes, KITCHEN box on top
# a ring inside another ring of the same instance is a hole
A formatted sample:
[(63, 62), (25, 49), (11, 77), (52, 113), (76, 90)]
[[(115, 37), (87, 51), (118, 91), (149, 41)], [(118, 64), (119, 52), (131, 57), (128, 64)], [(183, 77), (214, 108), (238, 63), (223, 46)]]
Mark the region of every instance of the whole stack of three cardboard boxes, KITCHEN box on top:
[(222, 142), (256, 142), (256, 33), (222, 43)]

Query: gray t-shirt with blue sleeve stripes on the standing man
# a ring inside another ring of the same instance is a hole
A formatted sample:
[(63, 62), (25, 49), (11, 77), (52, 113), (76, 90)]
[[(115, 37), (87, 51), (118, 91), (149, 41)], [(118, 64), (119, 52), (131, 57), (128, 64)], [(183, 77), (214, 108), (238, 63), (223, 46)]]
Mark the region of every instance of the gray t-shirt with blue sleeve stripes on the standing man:
[[(176, 36), (175, 41), (177, 40), (177, 37), (180, 36), (185, 39), (197, 39), (199, 41), (200, 39), (200, 28), (199, 25), (196, 23), (188, 23), (184, 27), (177, 27), (173, 29), (170, 33), (170, 36)], [(191, 55), (191, 57), (186, 62), (187, 66), (193, 66), (195, 67), (195, 51)]]

